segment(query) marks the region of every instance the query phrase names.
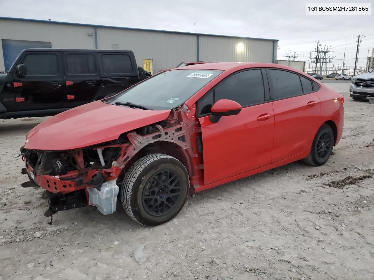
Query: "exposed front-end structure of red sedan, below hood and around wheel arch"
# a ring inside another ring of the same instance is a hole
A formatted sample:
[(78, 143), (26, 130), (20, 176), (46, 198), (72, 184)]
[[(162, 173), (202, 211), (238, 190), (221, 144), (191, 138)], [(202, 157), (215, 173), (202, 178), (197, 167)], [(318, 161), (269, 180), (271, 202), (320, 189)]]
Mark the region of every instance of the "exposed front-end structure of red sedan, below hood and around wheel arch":
[(139, 156), (155, 148), (177, 147), (190, 158), (187, 152), (190, 146), (188, 126), (179, 122), (174, 112), (164, 121), (90, 147), (61, 151), (22, 147), (20, 152), (25, 162), (22, 174), (30, 179), (22, 187), (45, 189), (42, 198), (49, 203), (46, 217), (86, 205), (95, 206), (104, 215), (113, 214), (125, 172)]

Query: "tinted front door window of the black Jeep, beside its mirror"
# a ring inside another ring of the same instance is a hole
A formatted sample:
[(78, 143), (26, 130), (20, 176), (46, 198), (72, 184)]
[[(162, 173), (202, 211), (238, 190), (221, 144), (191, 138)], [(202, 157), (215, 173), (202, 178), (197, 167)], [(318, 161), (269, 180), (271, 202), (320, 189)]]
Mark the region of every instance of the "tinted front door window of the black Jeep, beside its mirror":
[(51, 54), (28, 54), (22, 60), (25, 64), (28, 76), (52, 76), (58, 75), (57, 55)]

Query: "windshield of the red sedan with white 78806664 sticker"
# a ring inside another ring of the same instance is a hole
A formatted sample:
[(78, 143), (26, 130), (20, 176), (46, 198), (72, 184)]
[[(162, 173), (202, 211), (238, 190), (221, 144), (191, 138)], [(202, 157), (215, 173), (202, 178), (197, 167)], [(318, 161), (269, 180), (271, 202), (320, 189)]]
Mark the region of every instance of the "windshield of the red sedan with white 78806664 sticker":
[(177, 108), (222, 72), (197, 69), (165, 71), (113, 96), (106, 102), (113, 105), (131, 102), (154, 110)]

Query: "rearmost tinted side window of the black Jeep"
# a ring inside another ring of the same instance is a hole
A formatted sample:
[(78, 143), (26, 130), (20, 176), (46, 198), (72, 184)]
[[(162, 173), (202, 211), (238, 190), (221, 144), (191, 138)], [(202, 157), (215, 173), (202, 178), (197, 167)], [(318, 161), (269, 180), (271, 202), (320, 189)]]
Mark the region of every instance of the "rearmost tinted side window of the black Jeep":
[(107, 74), (132, 73), (131, 58), (125, 54), (102, 55), (102, 66)]

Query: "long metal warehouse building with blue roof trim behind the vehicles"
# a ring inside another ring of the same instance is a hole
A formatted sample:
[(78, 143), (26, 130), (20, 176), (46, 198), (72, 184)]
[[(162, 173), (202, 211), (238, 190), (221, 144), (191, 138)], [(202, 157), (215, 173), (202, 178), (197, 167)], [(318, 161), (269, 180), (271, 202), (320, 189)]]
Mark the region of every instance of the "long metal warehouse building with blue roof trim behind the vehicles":
[(132, 50), (153, 73), (185, 61), (275, 63), (278, 40), (0, 17), (0, 71), (27, 48)]

